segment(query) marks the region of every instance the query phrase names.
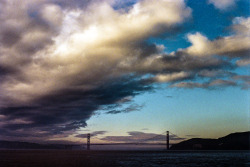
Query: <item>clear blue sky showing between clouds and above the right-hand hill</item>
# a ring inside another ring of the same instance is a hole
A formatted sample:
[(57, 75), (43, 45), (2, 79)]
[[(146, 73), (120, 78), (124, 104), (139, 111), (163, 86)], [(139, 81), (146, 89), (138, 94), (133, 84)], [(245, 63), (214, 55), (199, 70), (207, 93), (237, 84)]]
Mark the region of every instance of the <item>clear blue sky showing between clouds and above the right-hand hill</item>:
[[(185, 28), (166, 37), (153, 37), (151, 43), (162, 44), (170, 53), (178, 48), (190, 46), (187, 33), (201, 32), (213, 40), (230, 35), (229, 29), (234, 17), (249, 16), (249, 2), (239, 1), (237, 5), (218, 10), (207, 1), (186, 1), (192, 9), (192, 18)], [(235, 69), (249, 75), (249, 67)], [(88, 122), (90, 128), (110, 129), (110, 135), (127, 135), (129, 131), (161, 133), (166, 130), (187, 137), (196, 135), (218, 138), (232, 132), (249, 130), (249, 91), (239, 87), (209, 89), (176, 89), (167, 84), (152, 93), (134, 98), (135, 103), (145, 106), (135, 113), (94, 116)], [(115, 121), (117, 120), (117, 121)], [(111, 122), (115, 121), (115, 125)], [(99, 122), (97, 124), (97, 122)], [(111, 126), (110, 126), (111, 123)]]

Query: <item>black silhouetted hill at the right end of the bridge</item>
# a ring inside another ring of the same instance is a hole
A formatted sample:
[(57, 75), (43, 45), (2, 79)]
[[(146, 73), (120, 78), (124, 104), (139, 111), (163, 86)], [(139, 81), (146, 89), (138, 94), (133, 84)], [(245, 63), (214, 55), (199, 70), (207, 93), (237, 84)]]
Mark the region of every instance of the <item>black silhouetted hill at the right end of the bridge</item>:
[(232, 133), (218, 139), (193, 138), (172, 145), (171, 150), (250, 150), (250, 132)]

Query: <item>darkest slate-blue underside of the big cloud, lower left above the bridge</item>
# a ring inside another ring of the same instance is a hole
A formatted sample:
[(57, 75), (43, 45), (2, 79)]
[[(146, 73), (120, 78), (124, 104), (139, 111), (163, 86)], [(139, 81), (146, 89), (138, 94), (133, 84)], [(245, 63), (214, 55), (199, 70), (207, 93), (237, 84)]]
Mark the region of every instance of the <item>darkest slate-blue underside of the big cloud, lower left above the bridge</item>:
[[(112, 83), (106, 83), (91, 91), (60, 91), (36, 99), (30, 106), (2, 108), (0, 114), (6, 116), (2, 129), (8, 130), (8, 133), (5, 133), (8, 136), (16, 136), (17, 131), (23, 129), (32, 130), (30, 135), (34, 129), (43, 131), (47, 137), (63, 134), (85, 127), (86, 121), (94, 114), (94, 111), (102, 106), (120, 103), (126, 97), (133, 97), (150, 89), (152, 87), (144, 85), (143, 81), (126, 77), (113, 80)], [(131, 105), (125, 110), (131, 112), (141, 107)], [(125, 110), (119, 112), (125, 112)], [(23, 121), (10, 124), (8, 123), (10, 120)]]

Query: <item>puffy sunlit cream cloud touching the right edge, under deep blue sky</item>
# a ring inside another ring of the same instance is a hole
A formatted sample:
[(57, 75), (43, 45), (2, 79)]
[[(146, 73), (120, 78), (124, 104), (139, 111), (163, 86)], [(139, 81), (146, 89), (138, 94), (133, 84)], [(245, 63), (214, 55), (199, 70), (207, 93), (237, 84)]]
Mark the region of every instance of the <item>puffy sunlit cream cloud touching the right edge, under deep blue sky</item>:
[(233, 20), (232, 29), (235, 34), (208, 40), (199, 32), (188, 34), (191, 46), (180, 51), (191, 56), (222, 55), (229, 57), (246, 57), (250, 49), (250, 18), (237, 17)]

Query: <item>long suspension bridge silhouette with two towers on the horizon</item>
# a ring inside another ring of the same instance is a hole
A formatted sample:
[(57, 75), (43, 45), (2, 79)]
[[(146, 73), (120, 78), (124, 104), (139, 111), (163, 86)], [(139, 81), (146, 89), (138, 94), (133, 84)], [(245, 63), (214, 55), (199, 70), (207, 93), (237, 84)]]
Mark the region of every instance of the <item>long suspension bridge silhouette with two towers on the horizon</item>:
[[(90, 143), (90, 139), (91, 139), (91, 133), (87, 134), (87, 150), (90, 150), (91, 145), (166, 145), (166, 149), (169, 150), (169, 145), (172, 145), (171, 143), (169, 143), (170, 141), (170, 136), (169, 134), (172, 135), (172, 137), (175, 137), (175, 140), (183, 140), (184, 138), (179, 137), (178, 135), (170, 132), (170, 131), (165, 131), (161, 134), (157, 134), (153, 137), (150, 138), (145, 138), (145, 139), (138, 139), (137, 141), (134, 142), (106, 142), (106, 143)], [(159, 139), (162, 140), (163, 135), (165, 135), (165, 142), (164, 143), (159, 143)], [(152, 141), (158, 141), (158, 143), (152, 143)], [(149, 141), (151, 141), (151, 143), (148, 143)]]

